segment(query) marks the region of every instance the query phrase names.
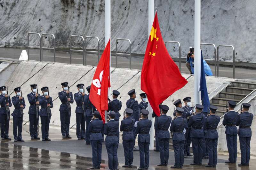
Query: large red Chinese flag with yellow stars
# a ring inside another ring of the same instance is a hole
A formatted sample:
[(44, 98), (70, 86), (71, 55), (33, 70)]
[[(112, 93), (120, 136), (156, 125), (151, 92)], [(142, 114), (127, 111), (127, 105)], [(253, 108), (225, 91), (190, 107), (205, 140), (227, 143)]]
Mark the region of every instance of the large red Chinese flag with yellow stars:
[(158, 105), (187, 83), (165, 48), (156, 13), (141, 70), (141, 90), (159, 116)]

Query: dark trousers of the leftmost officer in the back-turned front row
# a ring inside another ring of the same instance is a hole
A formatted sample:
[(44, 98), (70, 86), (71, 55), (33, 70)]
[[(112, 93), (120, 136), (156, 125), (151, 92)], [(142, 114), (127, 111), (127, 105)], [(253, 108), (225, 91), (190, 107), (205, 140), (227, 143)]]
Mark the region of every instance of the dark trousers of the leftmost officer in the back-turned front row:
[(102, 150), (102, 139), (92, 140), (92, 165), (94, 167), (100, 167), (101, 163), (101, 150)]

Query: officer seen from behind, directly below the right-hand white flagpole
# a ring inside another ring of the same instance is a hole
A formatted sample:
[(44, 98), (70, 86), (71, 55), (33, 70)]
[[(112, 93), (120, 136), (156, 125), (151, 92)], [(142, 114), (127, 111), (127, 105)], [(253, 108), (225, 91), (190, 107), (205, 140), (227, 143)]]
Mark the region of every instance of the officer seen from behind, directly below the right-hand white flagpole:
[(202, 165), (203, 138), (205, 115), (202, 114), (203, 106), (196, 105), (196, 114), (189, 118), (188, 127), (191, 127), (191, 138), (194, 161), (190, 165)]

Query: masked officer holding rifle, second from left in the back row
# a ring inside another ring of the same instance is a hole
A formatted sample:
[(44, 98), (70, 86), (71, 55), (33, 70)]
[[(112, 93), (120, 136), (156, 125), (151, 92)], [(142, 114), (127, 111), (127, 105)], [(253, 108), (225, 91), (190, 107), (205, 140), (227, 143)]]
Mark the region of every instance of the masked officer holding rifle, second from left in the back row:
[[(20, 108), (25, 108), (25, 100), (23, 97), (21, 97), (20, 87), (16, 87), (13, 89), (16, 93), (16, 96), (12, 97), (12, 104), (15, 107), (15, 109), (12, 112), (13, 116), (13, 137), (14, 142), (20, 141), (24, 142), (22, 140), (21, 132), (22, 132), (22, 122), (23, 122), (23, 114), (22, 111), (20, 111)], [(18, 136), (17, 136), (17, 128), (18, 128)]]

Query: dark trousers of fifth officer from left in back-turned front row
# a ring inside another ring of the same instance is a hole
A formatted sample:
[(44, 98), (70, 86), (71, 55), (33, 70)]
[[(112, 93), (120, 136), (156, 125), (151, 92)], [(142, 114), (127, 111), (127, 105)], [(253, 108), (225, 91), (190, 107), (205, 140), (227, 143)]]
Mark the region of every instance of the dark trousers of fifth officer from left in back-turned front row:
[(167, 165), (168, 159), (169, 159), (170, 138), (158, 137), (158, 144), (159, 144), (159, 150), (160, 150), (160, 163), (162, 165)]

